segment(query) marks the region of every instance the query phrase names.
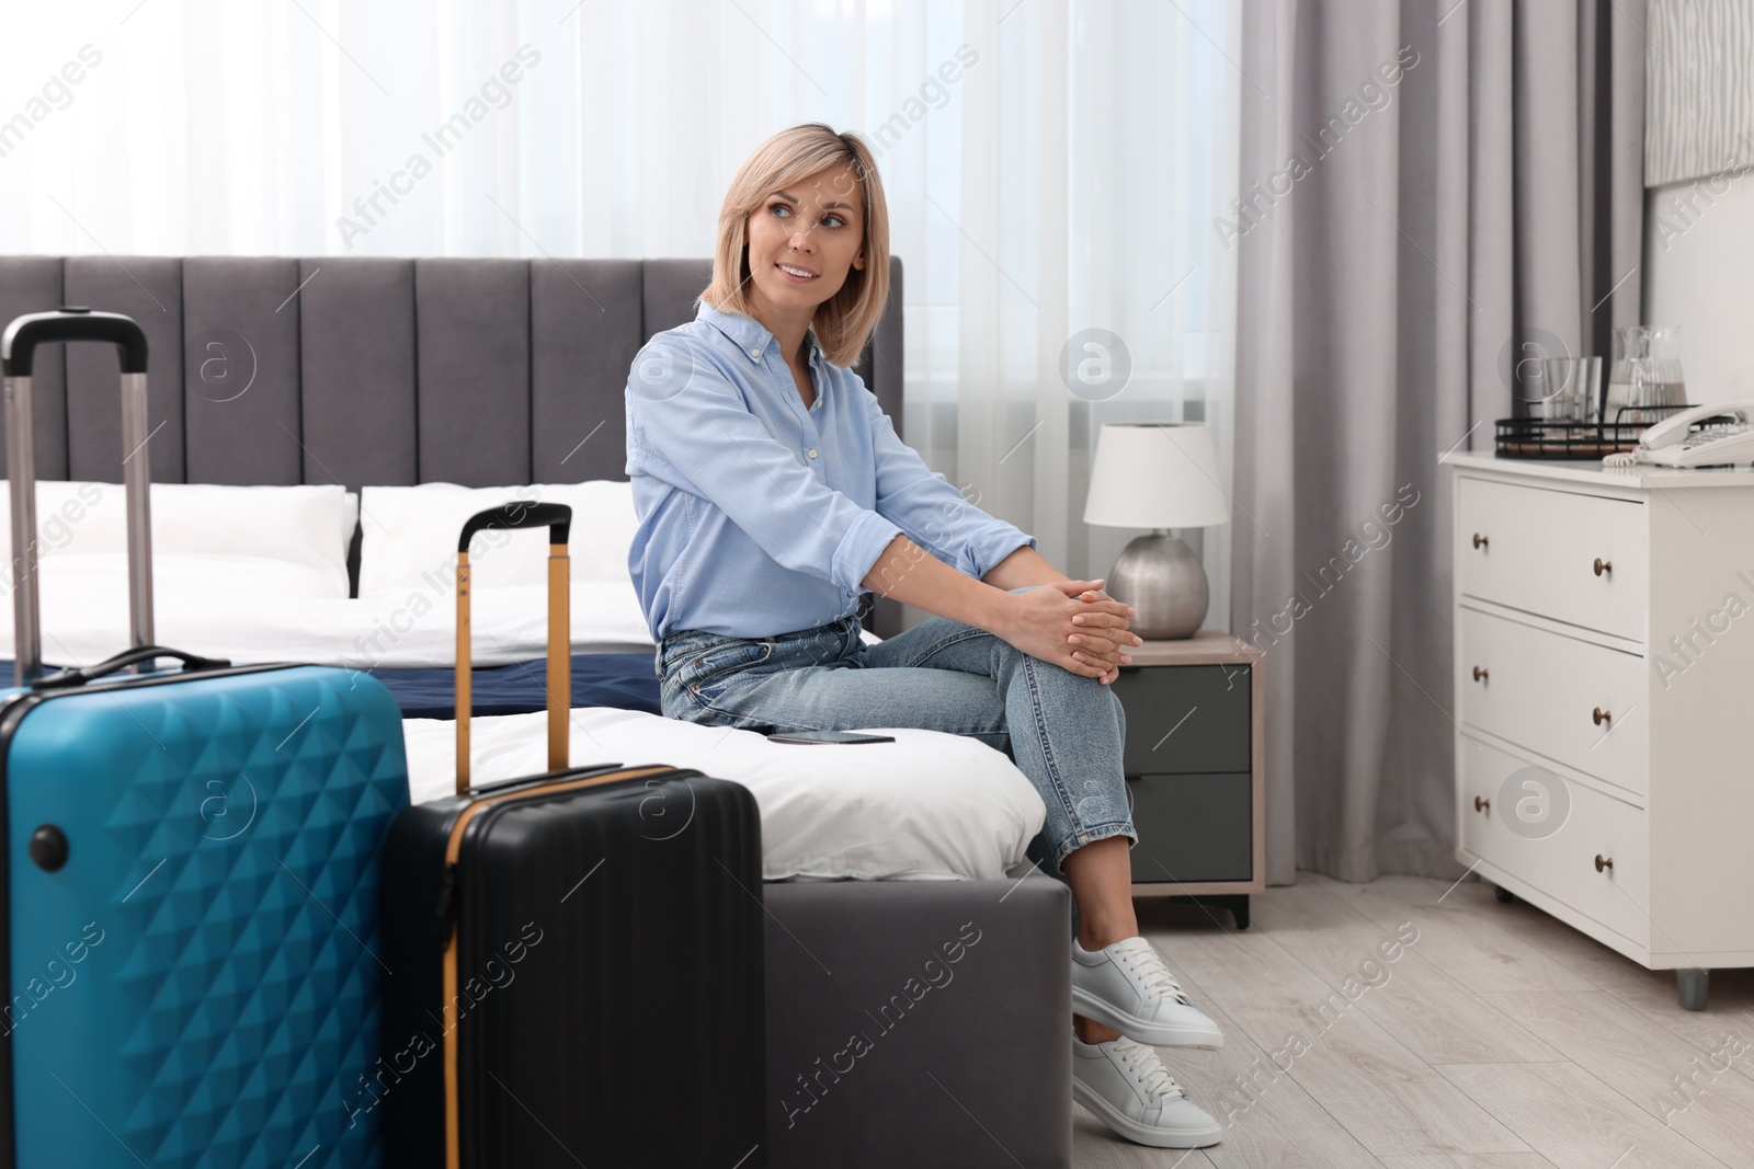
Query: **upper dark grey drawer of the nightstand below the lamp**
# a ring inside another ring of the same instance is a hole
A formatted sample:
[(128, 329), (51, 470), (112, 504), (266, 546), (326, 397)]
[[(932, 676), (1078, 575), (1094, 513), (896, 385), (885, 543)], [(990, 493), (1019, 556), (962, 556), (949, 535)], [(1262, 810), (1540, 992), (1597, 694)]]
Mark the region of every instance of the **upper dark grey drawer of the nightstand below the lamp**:
[(1126, 775), (1249, 771), (1249, 680), (1237, 666), (1123, 666)]

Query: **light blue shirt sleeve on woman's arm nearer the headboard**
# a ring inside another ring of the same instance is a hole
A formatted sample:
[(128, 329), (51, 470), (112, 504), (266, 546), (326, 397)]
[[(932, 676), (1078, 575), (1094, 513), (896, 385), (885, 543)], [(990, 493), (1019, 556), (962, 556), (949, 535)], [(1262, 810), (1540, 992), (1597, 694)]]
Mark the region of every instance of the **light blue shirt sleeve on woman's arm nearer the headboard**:
[[(688, 352), (652, 354), (658, 347)], [(751, 414), (705, 351), (658, 337), (635, 358), (635, 370), (649, 358), (688, 377), (661, 400), (638, 393), (630, 377), (628, 471), (712, 501), (784, 568), (859, 591), (902, 528), (821, 484)]]

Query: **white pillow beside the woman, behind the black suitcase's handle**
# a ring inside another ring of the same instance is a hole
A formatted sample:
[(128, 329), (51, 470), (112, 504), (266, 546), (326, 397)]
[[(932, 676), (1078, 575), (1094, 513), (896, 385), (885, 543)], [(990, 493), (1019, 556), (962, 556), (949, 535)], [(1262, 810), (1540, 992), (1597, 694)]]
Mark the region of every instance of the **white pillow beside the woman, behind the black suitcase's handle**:
[[(360, 499), (360, 596), (405, 596), (451, 580), (456, 538), (470, 515), (503, 503), (572, 507), (572, 582), (626, 584), (638, 521), (633, 484), (526, 484), (523, 487), (367, 487)], [(472, 584), (496, 591), (547, 585), (547, 529), (481, 531), (468, 545)]]

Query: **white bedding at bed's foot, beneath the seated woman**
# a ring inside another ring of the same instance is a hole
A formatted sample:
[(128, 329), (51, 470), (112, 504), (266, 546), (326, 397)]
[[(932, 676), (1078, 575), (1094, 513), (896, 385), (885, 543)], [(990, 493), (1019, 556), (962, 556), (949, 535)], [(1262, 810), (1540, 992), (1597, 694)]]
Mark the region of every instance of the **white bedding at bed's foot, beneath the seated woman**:
[[(454, 792), (456, 724), (402, 726), (414, 801)], [(770, 882), (998, 880), (1024, 859), (1047, 811), (1003, 752), (940, 731), (882, 733), (896, 741), (805, 747), (586, 706), (572, 712), (572, 761), (665, 762), (742, 783), (761, 806), (761, 876)], [(544, 713), (475, 719), (472, 780), (545, 771), (545, 734)]]

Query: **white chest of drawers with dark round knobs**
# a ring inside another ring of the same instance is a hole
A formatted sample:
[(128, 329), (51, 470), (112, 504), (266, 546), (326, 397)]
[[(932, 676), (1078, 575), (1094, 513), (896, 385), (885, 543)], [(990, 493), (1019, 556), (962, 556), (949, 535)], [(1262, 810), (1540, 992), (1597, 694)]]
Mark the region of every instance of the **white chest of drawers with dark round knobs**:
[(1445, 463), (1456, 859), (1703, 1010), (1754, 966), (1754, 470)]

